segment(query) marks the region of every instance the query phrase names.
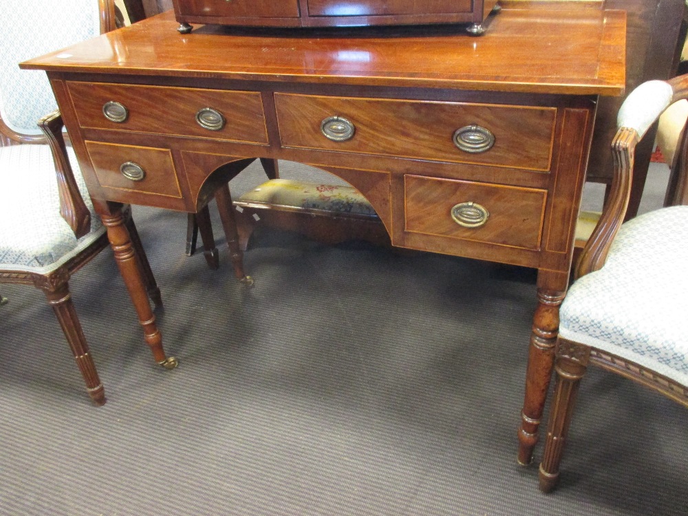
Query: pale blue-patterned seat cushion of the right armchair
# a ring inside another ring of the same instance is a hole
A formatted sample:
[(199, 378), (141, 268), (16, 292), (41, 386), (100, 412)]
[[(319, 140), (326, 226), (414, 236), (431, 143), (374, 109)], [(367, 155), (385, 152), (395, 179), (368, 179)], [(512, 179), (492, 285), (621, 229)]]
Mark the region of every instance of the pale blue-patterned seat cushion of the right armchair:
[(688, 385), (688, 206), (623, 224), (561, 306), (559, 333)]

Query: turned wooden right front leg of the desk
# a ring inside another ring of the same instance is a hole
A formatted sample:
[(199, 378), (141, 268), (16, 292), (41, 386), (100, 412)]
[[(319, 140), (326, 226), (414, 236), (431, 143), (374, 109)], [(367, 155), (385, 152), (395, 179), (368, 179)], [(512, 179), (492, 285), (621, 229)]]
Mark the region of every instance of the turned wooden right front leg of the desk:
[(537, 275), (537, 308), (530, 334), (526, 392), (518, 431), (518, 462), (530, 464), (538, 440), (540, 420), (554, 367), (559, 332), (559, 306), (566, 295), (568, 275), (540, 270)]

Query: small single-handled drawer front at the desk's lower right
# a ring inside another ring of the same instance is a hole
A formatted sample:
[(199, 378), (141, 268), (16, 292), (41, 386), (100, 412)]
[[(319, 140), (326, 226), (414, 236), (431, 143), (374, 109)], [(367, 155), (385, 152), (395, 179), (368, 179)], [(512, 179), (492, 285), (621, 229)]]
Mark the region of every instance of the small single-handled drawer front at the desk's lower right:
[(533, 250), (540, 246), (544, 190), (418, 175), (406, 175), (404, 187), (407, 232)]

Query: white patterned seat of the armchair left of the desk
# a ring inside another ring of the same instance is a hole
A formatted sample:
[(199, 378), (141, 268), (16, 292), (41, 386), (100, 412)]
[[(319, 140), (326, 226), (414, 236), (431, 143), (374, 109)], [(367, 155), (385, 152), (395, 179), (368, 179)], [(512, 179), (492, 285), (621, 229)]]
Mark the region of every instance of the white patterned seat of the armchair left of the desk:
[(46, 274), (105, 232), (88, 197), (74, 151), (67, 149), (91, 232), (76, 239), (60, 215), (55, 165), (47, 145), (0, 147), (0, 269)]

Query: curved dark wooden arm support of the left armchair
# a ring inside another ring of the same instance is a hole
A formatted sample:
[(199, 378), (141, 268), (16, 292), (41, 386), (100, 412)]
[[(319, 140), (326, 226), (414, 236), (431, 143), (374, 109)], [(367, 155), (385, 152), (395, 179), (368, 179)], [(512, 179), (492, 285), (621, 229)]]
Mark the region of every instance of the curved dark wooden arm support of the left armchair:
[(62, 133), (64, 124), (59, 111), (39, 120), (39, 127), (47, 138), (55, 162), (57, 186), (60, 194), (60, 215), (67, 221), (77, 238), (83, 237), (91, 230), (91, 213), (86, 206), (74, 179), (72, 165), (67, 158), (65, 138)]

